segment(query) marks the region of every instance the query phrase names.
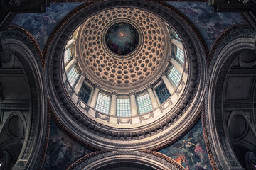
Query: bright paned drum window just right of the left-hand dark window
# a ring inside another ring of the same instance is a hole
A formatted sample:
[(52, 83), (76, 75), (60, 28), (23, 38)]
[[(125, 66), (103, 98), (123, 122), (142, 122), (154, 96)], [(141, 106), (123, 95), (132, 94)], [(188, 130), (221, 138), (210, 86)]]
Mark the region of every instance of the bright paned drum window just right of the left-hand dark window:
[(110, 96), (99, 93), (95, 110), (108, 114), (110, 111)]

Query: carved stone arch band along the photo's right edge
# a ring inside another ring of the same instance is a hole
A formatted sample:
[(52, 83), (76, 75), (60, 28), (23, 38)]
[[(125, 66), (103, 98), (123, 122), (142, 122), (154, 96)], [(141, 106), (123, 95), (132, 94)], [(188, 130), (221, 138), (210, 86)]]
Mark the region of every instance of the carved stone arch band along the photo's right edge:
[(242, 52), (254, 50), (255, 35), (255, 30), (233, 30), (220, 40), (210, 61), (205, 96), (206, 130), (210, 151), (218, 169), (243, 169), (228, 140), (221, 102), (228, 69)]

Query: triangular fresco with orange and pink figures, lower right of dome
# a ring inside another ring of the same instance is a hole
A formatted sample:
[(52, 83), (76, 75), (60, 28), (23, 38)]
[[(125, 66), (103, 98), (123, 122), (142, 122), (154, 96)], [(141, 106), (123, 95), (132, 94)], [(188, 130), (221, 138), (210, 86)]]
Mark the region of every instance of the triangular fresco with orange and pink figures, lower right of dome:
[(203, 138), (201, 119), (180, 140), (159, 151), (189, 170), (212, 169)]

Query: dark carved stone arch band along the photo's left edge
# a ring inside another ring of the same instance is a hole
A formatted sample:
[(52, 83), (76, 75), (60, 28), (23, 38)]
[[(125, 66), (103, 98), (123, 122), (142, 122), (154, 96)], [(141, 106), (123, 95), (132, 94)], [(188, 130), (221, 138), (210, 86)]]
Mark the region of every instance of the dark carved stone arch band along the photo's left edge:
[(21, 63), (29, 82), (28, 128), (24, 145), (13, 169), (38, 169), (46, 137), (46, 90), (43, 67), (38, 50), (28, 38), (29, 33), (4, 30), (1, 32), (3, 50), (14, 55)]

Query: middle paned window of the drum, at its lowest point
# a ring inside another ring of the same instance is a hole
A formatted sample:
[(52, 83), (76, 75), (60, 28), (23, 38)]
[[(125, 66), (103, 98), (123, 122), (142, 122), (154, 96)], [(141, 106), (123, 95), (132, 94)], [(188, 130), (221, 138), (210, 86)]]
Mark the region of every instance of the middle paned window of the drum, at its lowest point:
[(131, 116), (131, 105), (129, 98), (117, 98), (117, 116)]

